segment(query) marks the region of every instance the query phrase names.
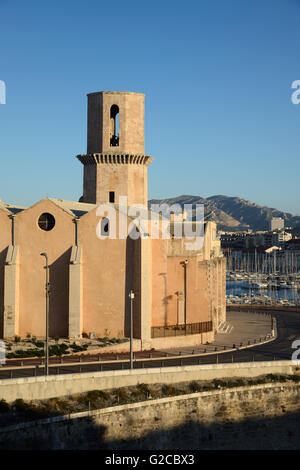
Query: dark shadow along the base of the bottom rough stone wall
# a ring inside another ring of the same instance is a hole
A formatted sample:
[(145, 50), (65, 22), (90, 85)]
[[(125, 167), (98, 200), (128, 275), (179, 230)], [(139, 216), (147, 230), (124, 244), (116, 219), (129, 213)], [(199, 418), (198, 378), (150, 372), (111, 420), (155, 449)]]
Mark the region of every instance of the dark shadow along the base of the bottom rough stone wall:
[[(191, 410), (191, 417), (195, 411)], [(283, 408), (278, 412), (285, 413)], [(154, 418), (153, 427), (159, 425), (160, 419)], [(0, 450), (298, 450), (299, 419), (300, 412), (293, 412), (274, 418), (205, 425), (197, 422), (195, 415), (195, 420), (191, 418), (172, 429), (135, 439), (106, 441), (104, 426), (96, 425), (92, 418), (81, 418), (32, 426), (3, 437), (0, 434)]]

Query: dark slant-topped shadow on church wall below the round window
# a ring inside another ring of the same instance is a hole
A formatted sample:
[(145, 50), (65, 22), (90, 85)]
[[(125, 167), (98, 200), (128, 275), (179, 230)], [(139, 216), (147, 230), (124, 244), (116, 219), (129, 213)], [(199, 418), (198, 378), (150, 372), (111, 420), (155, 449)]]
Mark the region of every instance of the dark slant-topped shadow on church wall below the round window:
[(49, 336), (68, 336), (69, 315), (69, 248), (49, 266)]

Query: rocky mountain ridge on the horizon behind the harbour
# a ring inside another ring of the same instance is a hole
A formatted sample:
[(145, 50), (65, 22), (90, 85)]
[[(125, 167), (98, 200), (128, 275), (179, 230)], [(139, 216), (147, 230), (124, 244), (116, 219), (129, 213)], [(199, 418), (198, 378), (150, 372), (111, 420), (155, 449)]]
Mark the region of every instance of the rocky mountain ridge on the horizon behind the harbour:
[(259, 206), (240, 197), (177, 196), (169, 199), (152, 199), (149, 201), (149, 206), (162, 203), (179, 204), (182, 207), (184, 204), (204, 204), (205, 219), (216, 222), (220, 230), (268, 230), (272, 217), (283, 218), (286, 227), (300, 226), (299, 216), (271, 207)]

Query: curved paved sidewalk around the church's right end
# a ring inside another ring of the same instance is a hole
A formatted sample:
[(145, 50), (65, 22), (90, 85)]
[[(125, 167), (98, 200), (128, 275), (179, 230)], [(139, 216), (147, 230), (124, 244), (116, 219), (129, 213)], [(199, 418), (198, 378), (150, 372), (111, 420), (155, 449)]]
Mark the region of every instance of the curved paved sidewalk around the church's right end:
[[(227, 312), (228, 328), (227, 333), (217, 333), (215, 340), (210, 344), (201, 344), (199, 346), (189, 346), (171, 349), (162, 349), (159, 351), (171, 354), (199, 354), (214, 352), (217, 348), (218, 352), (222, 350), (253, 345), (265, 341), (265, 336), (270, 335), (272, 331), (272, 320), (270, 314), (261, 314), (254, 312)], [(242, 344), (241, 344), (242, 343)]]

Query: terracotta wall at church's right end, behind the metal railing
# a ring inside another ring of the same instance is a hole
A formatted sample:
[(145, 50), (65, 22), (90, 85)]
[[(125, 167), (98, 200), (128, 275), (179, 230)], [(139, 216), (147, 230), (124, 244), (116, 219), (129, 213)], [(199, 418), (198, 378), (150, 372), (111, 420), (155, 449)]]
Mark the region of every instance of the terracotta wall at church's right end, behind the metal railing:
[[(222, 304), (221, 296), (223, 295), (225, 299), (225, 283), (222, 283), (220, 278), (222, 271), (220, 263), (222, 264), (222, 261), (220, 261), (221, 258), (209, 259), (213, 228), (211, 224), (206, 224), (204, 247), (198, 253), (187, 251), (184, 239), (153, 240), (152, 326), (176, 325), (180, 317), (181, 322), (179, 321), (179, 323), (182, 323), (184, 268), (180, 263), (186, 259), (189, 261), (187, 268), (187, 323), (211, 321), (212, 304), (217, 306)], [(219, 275), (217, 275), (217, 269)], [(224, 270), (223, 277), (225, 279)], [(179, 293), (182, 293), (181, 315), (179, 315)]]

